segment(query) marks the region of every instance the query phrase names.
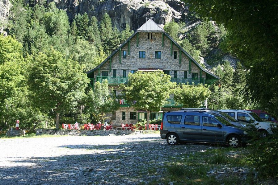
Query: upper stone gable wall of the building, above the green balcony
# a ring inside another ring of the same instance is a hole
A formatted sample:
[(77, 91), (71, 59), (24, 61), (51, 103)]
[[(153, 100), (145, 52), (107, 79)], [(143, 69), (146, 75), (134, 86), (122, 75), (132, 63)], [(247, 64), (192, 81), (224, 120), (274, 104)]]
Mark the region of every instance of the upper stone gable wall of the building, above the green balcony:
[[(123, 51), (127, 52), (126, 59), (123, 58)], [(146, 58), (139, 58), (139, 51), (146, 52)], [(155, 51), (161, 51), (161, 59), (155, 59)], [(177, 59), (174, 59), (174, 51), (177, 51)], [(162, 48), (162, 33), (153, 33), (153, 39), (148, 39), (148, 32), (139, 32), (139, 46), (137, 47), (137, 37), (134, 36), (130, 40), (130, 55), (128, 55), (128, 44), (121, 48), (121, 63), (119, 62), (118, 51), (111, 59), (111, 74), (109, 74), (109, 60), (100, 67), (100, 76), (103, 71), (108, 71), (108, 76), (113, 76), (113, 69), (117, 70), (116, 76), (123, 76), (123, 70), (126, 75), (130, 70), (138, 70), (138, 68), (157, 68), (169, 70), (171, 77), (174, 77), (174, 71), (177, 71), (178, 78), (184, 78), (184, 71), (187, 71), (187, 78), (191, 78), (189, 74), (189, 60), (182, 53), (181, 64), (179, 64), (179, 49), (173, 44), (173, 54), (171, 55), (171, 40), (164, 35), (164, 47)], [(200, 69), (191, 63), (191, 72), (198, 73), (200, 77)], [(98, 70), (95, 70), (94, 77), (98, 76)], [(205, 72), (203, 72), (205, 78)]]

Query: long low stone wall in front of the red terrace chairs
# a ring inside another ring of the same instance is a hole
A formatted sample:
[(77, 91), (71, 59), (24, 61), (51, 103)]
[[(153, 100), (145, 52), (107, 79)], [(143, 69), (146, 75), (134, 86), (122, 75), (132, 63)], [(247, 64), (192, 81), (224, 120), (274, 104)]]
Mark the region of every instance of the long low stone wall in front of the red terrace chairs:
[(56, 130), (56, 129), (37, 129), (36, 135), (70, 135), (70, 136), (106, 136), (106, 135), (127, 135), (140, 133), (132, 130)]

